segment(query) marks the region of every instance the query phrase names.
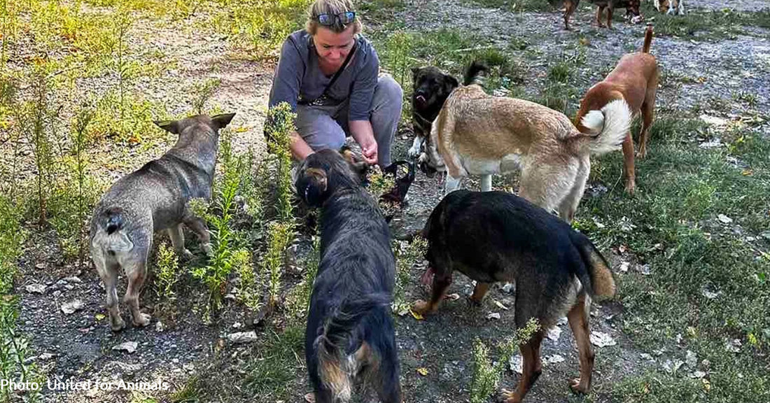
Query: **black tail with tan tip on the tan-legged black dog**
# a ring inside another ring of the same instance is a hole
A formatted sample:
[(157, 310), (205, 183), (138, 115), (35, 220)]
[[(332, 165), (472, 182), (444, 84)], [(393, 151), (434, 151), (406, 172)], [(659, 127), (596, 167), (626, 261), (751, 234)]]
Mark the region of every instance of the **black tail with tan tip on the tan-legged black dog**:
[[(570, 238), (580, 252), (583, 265), (575, 265), (575, 275), (592, 298), (611, 298), (615, 295), (615, 281), (607, 259), (587, 236), (571, 231)], [(588, 271), (586, 270), (588, 268)]]

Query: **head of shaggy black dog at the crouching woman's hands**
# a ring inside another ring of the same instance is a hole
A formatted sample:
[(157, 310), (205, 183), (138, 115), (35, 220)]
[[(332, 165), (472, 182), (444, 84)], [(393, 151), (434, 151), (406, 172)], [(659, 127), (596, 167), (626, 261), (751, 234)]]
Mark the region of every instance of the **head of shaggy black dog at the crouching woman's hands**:
[[(352, 158), (350, 154), (349, 158)], [(362, 166), (335, 150), (320, 150), (308, 155), (300, 164), (294, 182), (297, 196), (307, 205), (323, 205), (337, 189), (360, 186), (361, 175), (366, 175), (365, 169), (365, 162)]]

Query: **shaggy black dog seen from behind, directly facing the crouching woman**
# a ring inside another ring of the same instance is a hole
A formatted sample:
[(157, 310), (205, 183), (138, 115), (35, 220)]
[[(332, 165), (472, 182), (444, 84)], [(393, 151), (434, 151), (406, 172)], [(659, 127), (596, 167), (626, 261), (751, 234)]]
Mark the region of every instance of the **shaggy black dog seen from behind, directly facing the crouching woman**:
[(336, 151), (309, 155), (295, 185), (303, 202), (321, 208), (321, 261), (305, 333), (316, 402), (348, 401), (356, 385), (368, 384), (380, 401), (400, 403), (390, 228)]

